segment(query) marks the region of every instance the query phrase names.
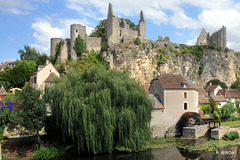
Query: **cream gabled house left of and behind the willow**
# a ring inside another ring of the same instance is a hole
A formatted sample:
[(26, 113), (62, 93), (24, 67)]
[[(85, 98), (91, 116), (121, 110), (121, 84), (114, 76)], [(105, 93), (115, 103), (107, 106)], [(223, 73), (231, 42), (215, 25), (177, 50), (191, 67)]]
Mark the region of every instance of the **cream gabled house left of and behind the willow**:
[(47, 61), (45, 66), (38, 66), (38, 70), (30, 76), (30, 82), (33, 88), (44, 90), (44, 87), (51, 83), (54, 76), (59, 77), (60, 73), (52, 63)]

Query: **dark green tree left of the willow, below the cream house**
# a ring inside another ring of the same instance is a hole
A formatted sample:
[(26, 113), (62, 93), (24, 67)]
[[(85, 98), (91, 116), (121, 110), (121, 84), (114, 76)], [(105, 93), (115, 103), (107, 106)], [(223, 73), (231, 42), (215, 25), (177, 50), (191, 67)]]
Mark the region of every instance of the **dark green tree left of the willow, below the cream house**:
[(38, 133), (44, 127), (46, 116), (46, 105), (41, 98), (41, 92), (27, 83), (19, 97), (22, 101), (21, 112), (18, 114), (20, 125), (31, 133)]

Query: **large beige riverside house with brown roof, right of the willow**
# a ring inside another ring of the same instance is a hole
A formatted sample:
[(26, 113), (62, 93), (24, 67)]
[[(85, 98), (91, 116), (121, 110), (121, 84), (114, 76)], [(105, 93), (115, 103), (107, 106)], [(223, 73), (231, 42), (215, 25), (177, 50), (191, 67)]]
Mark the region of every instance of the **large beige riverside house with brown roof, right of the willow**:
[(154, 78), (149, 94), (154, 105), (153, 137), (164, 137), (169, 132), (176, 136), (176, 124), (183, 113), (198, 112), (198, 89), (182, 75), (163, 74)]

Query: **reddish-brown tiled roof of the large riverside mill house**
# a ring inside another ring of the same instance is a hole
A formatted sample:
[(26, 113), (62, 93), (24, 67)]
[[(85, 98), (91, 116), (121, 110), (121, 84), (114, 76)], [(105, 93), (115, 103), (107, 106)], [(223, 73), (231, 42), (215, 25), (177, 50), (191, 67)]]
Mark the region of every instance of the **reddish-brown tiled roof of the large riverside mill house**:
[(188, 80), (187, 78), (180, 74), (163, 74), (155, 79), (159, 79), (163, 88), (167, 90), (168, 89), (197, 90), (196, 86), (190, 80)]

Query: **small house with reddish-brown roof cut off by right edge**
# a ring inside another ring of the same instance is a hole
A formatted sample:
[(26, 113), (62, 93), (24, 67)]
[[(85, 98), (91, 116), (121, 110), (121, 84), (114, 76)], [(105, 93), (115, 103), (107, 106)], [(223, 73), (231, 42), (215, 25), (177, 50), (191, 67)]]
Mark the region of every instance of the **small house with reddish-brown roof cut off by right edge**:
[(228, 102), (236, 107), (236, 101), (240, 101), (240, 92), (237, 89), (220, 89), (217, 95), (223, 95)]

